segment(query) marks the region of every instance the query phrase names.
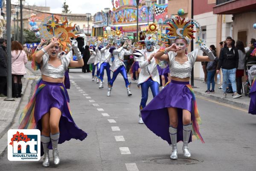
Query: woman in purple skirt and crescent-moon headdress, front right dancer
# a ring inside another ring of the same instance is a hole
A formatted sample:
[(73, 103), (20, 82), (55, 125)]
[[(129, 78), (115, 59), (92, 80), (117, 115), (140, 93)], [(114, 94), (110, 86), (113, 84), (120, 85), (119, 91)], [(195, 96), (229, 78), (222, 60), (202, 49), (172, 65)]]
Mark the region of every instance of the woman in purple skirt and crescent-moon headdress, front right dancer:
[[(154, 58), (169, 64), (172, 81), (141, 111), (145, 125), (172, 145), (171, 159), (177, 159), (177, 142), (183, 141), (184, 157), (191, 157), (188, 143), (192, 141), (192, 135), (204, 142), (199, 133), (198, 122), (201, 120), (189, 78), (196, 61), (213, 61), (215, 58), (201, 42), (201, 50), (208, 56), (198, 55), (199, 49), (187, 54), (189, 38), (194, 38), (189, 33), (194, 32), (193, 26), (199, 29), (199, 24), (195, 20), (184, 20), (178, 16), (168, 23), (170, 36), (176, 36), (175, 43), (161, 48), (154, 55)], [(186, 27), (181, 23), (186, 23)], [(179, 28), (183, 29), (184, 35), (180, 36)]]

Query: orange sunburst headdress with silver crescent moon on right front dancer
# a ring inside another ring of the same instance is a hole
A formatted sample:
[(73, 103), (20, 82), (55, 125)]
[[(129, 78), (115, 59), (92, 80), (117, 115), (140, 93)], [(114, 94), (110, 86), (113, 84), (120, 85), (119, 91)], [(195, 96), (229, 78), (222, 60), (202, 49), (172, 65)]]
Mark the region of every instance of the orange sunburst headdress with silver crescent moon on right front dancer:
[[(169, 32), (167, 35), (170, 37), (183, 38), (188, 43), (191, 39), (194, 39), (194, 33), (198, 32), (199, 37), (201, 37), (201, 26), (194, 19), (185, 20), (184, 17), (177, 16), (175, 18), (167, 19), (164, 23), (167, 23), (170, 27), (166, 28)], [(194, 30), (196, 28), (196, 31)]]

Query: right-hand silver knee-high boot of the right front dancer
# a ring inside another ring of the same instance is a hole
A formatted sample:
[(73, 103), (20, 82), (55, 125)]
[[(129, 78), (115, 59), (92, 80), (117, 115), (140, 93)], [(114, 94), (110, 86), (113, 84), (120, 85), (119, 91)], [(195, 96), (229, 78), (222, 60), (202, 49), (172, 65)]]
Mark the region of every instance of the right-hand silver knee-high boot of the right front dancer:
[(191, 134), (191, 128), (192, 128), (192, 124), (189, 125), (183, 125), (183, 154), (184, 157), (191, 157), (191, 153), (189, 151), (189, 136)]

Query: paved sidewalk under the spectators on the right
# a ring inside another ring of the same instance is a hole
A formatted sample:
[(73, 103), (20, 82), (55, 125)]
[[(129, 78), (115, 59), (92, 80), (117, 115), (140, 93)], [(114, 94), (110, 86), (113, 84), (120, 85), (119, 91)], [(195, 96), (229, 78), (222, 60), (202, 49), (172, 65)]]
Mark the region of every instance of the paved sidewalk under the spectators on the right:
[(194, 80), (195, 88), (193, 88), (193, 90), (196, 95), (204, 96), (212, 100), (231, 104), (244, 109), (249, 108), (250, 98), (248, 96), (244, 96), (244, 94), (242, 94), (242, 97), (234, 99), (232, 96), (233, 95), (232, 93), (227, 93), (227, 98), (222, 99), (221, 97), (223, 92), (221, 89), (218, 89), (218, 87), (220, 87), (221, 84), (215, 84), (215, 93), (204, 93), (207, 90), (207, 84), (203, 83), (202, 81), (203, 79), (197, 79), (197, 78), (195, 78)]

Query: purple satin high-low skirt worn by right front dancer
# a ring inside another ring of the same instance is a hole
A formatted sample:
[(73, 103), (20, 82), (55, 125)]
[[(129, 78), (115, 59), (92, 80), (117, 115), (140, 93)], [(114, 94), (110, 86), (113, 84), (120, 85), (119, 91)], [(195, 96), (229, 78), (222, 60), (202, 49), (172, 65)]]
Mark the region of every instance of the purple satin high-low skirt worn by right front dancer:
[[(163, 140), (166, 140), (169, 144), (172, 144), (172, 142), (169, 135), (168, 107), (176, 107), (178, 111), (177, 142), (183, 141), (183, 109), (189, 110), (192, 116), (192, 122), (194, 121), (194, 123), (197, 124), (197, 121), (195, 121), (193, 94), (187, 85), (189, 85), (189, 82), (172, 80), (141, 111), (142, 119), (145, 125), (153, 133), (160, 136)], [(199, 133), (198, 129), (197, 131)], [(191, 141), (192, 135), (189, 137), (189, 142)]]

